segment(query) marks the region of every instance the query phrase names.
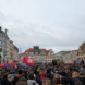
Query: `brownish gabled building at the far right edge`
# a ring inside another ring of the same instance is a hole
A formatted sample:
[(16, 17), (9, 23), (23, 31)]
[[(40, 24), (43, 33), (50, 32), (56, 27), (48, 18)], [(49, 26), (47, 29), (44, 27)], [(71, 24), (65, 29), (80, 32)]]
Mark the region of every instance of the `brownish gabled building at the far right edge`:
[(77, 50), (77, 60), (85, 59), (85, 42), (83, 42)]

